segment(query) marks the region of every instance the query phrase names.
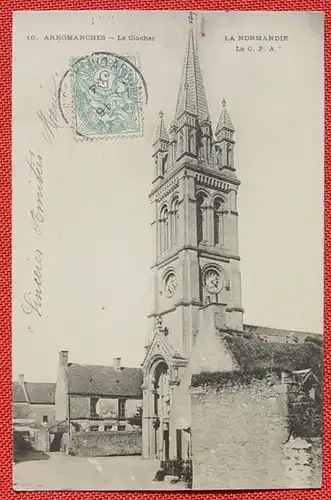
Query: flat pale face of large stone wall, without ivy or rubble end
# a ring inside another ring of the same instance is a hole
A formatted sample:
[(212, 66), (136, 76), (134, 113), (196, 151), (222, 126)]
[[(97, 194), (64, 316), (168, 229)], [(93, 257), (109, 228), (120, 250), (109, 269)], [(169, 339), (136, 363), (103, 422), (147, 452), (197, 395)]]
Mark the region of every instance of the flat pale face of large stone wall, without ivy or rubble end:
[(191, 389), (194, 489), (287, 486), (286, 390), (279, 379)]

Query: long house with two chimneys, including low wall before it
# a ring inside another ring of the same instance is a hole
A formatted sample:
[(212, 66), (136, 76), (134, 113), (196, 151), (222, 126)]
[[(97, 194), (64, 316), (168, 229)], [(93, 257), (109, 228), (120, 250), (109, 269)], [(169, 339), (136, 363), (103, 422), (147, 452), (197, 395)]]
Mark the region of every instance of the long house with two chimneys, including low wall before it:
[(55, 391), (57, 422), (67, 422), (67, 451), (74, 454), (140, 454), (142, 371), (69, 363), (59, 354)]

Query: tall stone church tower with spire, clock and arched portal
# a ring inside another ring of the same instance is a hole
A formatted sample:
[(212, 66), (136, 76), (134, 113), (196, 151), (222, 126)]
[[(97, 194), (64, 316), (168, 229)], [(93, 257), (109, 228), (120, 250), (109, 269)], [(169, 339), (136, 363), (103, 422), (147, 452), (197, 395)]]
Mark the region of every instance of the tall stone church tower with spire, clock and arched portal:
[[(175, 115), (160, 112), (153, 139), (150, 201), (155, 259), (145, 345), (143, 455), (175, 449), (171, 401), (195, 345), (205, 308), (218, 327), (242, 330), (234, 127), (225, 100), (213, 133), (192, 15)], [(199, 324), (200, 323), (200, 324)]]

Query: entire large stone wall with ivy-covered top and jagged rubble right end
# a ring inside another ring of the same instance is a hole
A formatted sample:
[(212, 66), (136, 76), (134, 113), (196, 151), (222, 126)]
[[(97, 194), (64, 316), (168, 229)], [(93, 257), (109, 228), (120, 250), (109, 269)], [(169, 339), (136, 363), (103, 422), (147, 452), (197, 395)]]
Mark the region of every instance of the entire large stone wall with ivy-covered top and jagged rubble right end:
[(321, 439), (319, 425), (313, 425), (319, 417), (312, 404), (308, 408), (305, 400), (294, 400), (288, 377), (205, 373), (194, 378), (194, 489), (320, 487)]

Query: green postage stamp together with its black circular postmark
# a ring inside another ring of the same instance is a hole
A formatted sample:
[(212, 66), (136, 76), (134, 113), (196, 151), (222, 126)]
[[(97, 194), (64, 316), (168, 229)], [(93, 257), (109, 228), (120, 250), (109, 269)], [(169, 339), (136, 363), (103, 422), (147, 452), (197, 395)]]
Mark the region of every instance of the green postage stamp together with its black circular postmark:
[(63, 119), (88, 139), (141, 136), (147, 98), (138, 56), (111, 52), (71, 58), (58, 91)]

